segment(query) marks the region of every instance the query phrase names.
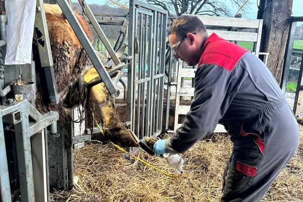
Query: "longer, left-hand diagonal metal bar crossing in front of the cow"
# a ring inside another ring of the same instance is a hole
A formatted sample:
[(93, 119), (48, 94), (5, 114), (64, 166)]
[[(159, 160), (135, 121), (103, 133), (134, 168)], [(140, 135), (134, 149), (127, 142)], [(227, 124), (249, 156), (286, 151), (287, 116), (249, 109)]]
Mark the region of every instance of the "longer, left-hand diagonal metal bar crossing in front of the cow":
[(109, 90), (111, 94), (117, 92), (116, 87), (112, 79), (110, 78), (109, 74), (107, 73), (104, 65), (100, 61), (97, 53), (95, 52), (93, 46), (91, 45), (89, 39), (87, 38), (84, 30), (82, 29), (80, 23), (78, 22), (77, 18), (75, 17), (72, 9), (66, 2), (66, 0), (57, 0), (58, 5), (60, 6), (62, 12), (64, 13), (66, 19), (68, 20), (69, 24), (71, 25), (72, 29), (74, 30), (75, 34), (77, 35), (81, 45), (85, 49), (86, 54), (88, 55), (91, 63), (93, 64), (94, 68), (96, 69), (97, 73), (99, 74), (100, 78), (102, 78), (105, 86)]

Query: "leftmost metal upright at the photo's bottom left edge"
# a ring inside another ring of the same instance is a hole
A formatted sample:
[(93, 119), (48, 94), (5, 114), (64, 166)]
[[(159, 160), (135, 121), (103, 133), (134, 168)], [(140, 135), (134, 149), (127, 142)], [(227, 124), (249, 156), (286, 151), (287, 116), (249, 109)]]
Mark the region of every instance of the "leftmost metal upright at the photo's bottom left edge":
[(2, 115), (0, 116), (0, 164), (0, 199), (1, 201), (12, 201)]

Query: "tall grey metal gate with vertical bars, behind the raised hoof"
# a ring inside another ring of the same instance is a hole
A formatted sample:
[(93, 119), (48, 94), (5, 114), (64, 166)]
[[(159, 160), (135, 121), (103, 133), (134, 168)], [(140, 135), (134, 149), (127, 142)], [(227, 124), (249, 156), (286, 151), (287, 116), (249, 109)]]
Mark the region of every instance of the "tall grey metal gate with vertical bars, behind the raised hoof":
[(162, 131), (166, 27), (167, 11), (130, 1), (127, 121), (139, 139)]

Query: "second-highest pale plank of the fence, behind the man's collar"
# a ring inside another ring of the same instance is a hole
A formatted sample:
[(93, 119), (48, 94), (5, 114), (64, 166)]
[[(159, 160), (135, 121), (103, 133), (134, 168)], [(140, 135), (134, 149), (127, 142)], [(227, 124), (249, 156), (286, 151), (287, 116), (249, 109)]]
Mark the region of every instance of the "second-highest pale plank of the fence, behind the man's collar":
[(258, 40), (258, 33), (252, 32), (234, 32), (234, 31), (222, 31), (222, 30), (207, 30), (208, 34), (216, 33), (221, 38), (233, 41), (254, 41)]

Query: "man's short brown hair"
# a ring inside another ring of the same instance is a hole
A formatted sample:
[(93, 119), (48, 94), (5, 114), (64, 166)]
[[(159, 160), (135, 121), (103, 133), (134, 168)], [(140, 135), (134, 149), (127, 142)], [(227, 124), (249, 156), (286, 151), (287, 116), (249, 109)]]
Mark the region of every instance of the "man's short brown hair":
[(167, 34), (176, 34), (180, 37), (188, 32), (207, 32), (206, 27), (198, 17), (193, 15), (182, 15), (178, 17), (167, 29)]

